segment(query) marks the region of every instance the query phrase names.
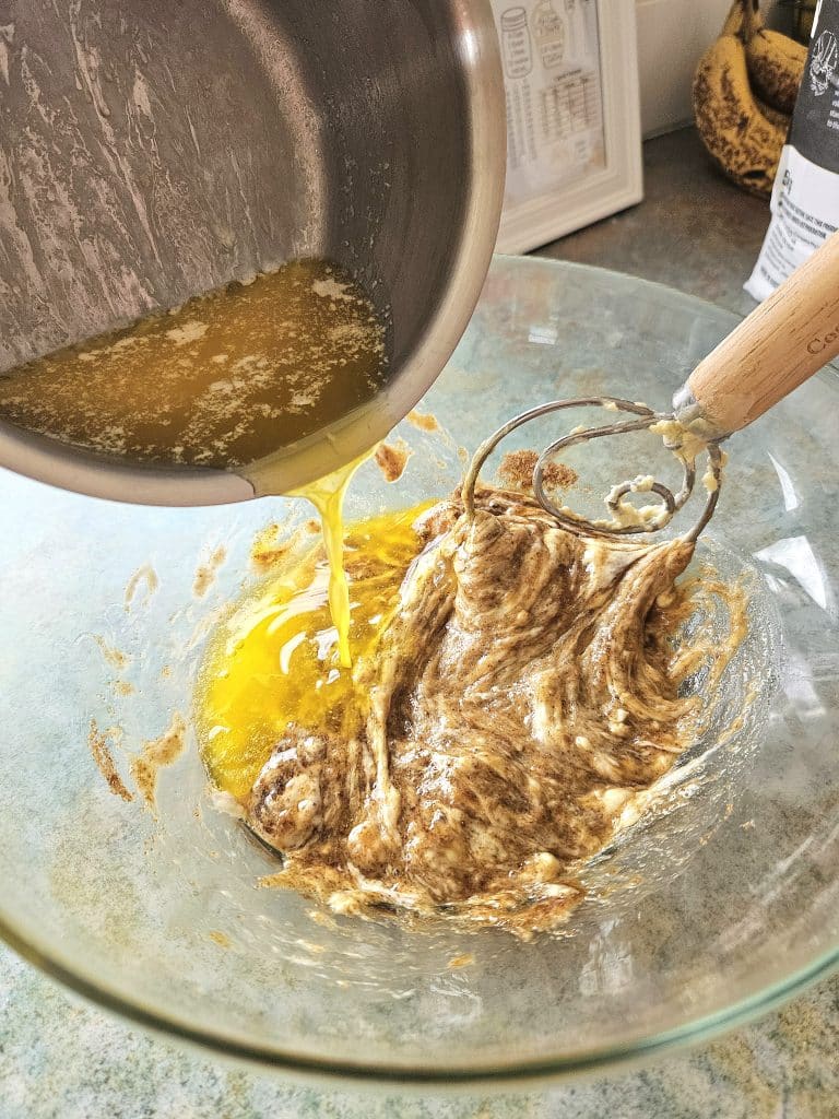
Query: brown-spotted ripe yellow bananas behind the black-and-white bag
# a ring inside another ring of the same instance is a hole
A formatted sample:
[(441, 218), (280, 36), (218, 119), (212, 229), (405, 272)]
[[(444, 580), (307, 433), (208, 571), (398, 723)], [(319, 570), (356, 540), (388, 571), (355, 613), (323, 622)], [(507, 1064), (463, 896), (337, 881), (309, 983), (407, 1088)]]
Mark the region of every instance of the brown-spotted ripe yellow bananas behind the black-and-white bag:
[(772, 192), (807, 50), (763, 26), (760, 0), (734, 0), (694, 78), (699, 135), (746, 190)]

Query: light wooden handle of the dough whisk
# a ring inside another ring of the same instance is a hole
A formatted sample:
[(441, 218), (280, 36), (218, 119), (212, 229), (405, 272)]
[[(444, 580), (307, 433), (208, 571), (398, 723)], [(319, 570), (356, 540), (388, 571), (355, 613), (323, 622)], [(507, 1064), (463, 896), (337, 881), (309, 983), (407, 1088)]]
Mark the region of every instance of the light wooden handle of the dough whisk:
[(701, 415), (730, 434), (752, 423), (839, 354), (839, 233), (694, 369)]

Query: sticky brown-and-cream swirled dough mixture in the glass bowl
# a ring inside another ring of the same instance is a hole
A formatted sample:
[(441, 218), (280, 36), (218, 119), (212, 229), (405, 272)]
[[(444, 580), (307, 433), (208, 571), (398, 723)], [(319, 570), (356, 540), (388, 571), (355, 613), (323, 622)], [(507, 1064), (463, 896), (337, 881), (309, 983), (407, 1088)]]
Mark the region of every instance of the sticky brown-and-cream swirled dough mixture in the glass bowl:
[[(581, 539), (512, 491), (479, 491), (471, 520), (455, 496), (415, 528), (389, 621), (326, 715), (285, 725), (244, 816), (282, 854), (271, 884), (529, 935), (700, 736), (745, 601), (676, 583), (688, 543)], [(380, 577), (365, 564), (349, 556), (353, 583)]]

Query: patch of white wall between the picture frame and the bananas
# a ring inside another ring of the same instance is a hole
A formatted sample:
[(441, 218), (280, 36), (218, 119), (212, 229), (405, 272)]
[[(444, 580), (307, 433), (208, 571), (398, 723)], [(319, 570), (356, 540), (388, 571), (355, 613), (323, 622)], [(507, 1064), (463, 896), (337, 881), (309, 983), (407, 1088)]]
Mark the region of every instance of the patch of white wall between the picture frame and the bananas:
[(637, 0), (637, 4), (641, 129), (648, 137), (692, 119), (694, 70), (719, 34), (732, 0)]

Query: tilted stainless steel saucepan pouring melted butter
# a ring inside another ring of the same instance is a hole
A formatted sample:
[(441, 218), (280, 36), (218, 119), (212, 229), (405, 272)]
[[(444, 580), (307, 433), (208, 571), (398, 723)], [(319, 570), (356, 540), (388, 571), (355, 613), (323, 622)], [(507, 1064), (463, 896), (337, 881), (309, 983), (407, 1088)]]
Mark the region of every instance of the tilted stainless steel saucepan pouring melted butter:
[[(387, 307), (390, 373), (333, 438), (289, 448), (274, 481), (383, 438), (454, 349), (496, 239), (488, 0), (12, 0), (0, 23), (0, 374), (324, 257)], [(234, 473), (110, 459), (1, 417), (0, 466), (144, 504), (254, 496)]]

